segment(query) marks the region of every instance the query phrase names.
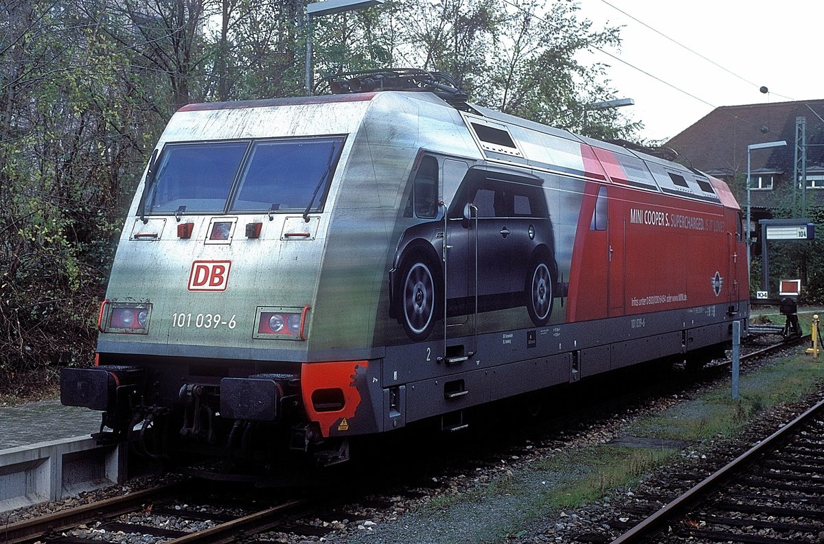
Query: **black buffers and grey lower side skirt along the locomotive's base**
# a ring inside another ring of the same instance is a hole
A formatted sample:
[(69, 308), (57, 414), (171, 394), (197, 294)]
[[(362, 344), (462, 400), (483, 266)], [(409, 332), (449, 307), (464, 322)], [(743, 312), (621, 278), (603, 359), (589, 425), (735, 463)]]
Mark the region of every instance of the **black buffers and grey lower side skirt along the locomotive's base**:
[[(216, 375), (208, 375), (212, 366), (202, 359), (101, 354), (96, 368), (65, 370), (62, 397), (66, 404), (104, 411), (99, 439), (129, 440), (149, 457), (189, 452), (270, 466), (297, 450), (326, 466), (349, 458), (349, 438), (356, 435), (435, 416), (444, 430), (457, 430), (466, 426), (466, 408), (486, 402), (649, 360), (700, 365), (723, 356), (733, 320), (748, 314), (740, 307), (746, 304), (447, 339), (447, 353), (469, 345), (476, 350), (457, 364), (410, 364), (428, 342), (389, 346), (383, 357), (364, 365), (365, 379), (351, 384), (362, 399), (351, 426), (338, 425), (335, 416), (351, 408), (344, 406), (344, 392), (320, 389), (306, 398), (302, 365), (295, 363), (221, 360), (220, 368), (232, 369), (231, 377), (221, 377), (217, 366)], [(672, 330), (672, 323), (684, 327)], [(106, 364), (113, 360), (126, 364)], [(396, 368), (404, 369), (401, 383)], [(335, 425), (321, 430), (307, 416), (311, 411), (331, 416)]]

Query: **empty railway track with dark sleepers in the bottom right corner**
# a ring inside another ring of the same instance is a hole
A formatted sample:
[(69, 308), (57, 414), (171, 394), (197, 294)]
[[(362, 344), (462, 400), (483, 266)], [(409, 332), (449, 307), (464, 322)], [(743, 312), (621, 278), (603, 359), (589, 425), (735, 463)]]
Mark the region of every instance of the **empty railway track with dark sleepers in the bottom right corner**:
[(613, 544), (824, 541), (824, 401)]

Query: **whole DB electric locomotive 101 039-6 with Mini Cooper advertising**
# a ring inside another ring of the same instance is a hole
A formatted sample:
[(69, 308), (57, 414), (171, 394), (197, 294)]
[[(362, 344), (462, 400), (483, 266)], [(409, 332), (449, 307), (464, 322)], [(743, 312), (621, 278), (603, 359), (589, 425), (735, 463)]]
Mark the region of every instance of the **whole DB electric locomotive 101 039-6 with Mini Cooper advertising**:
[(741, 211), (667, 160), (429, 72), (187, 105), (135, 193), (63, 404), (139, 451), (321, 465), (359, 435), (747, 330)]

